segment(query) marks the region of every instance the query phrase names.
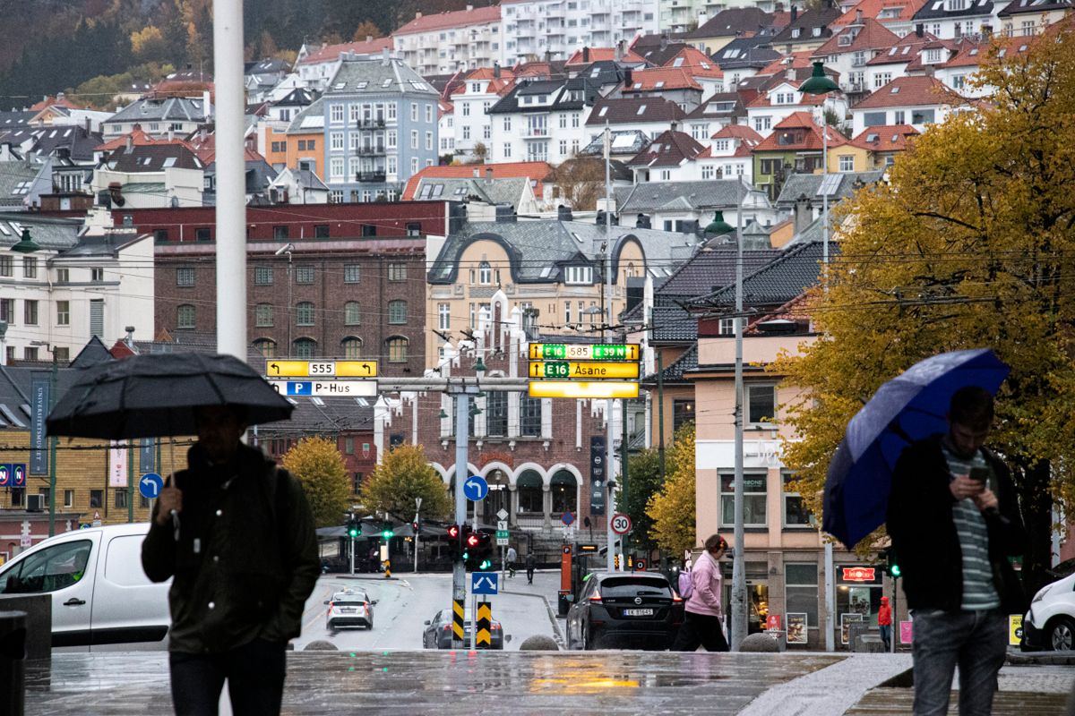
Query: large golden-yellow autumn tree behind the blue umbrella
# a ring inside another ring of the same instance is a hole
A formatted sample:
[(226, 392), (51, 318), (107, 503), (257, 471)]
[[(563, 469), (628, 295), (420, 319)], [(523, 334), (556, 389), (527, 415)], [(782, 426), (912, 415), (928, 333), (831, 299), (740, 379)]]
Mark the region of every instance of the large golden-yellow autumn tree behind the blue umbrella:
[(825, 337), (771, 369), (807, 389), (787, 406), (801, 440), (784, 449), (820, 514), (833, 450), (882, 383), (934, 353), (993, 348), (1012, 374), (990, 443), (1013, 467), (1033, 587), (1052, 502), (1075, 492), (1075, 32), (1028, 44), (1006, 57), (994, 46), (974, 79), (991, 101), (931, 127), (890, 185), (843, 207), (828, 290), (809, 299)]

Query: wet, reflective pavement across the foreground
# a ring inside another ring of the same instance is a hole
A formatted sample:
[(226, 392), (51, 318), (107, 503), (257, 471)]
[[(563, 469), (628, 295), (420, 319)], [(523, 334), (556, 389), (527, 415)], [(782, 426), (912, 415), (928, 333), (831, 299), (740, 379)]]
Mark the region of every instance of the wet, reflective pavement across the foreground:
[[(907, 655), (296, 652), (283, 713), (906, 714), (911, 689), (882, 684), (908, 667)], [(1073, 674), (1005, 667), (994, 714), (1061, 713)], [(27, 668), (27, 716), (169, 713), (166, 654), (56, 654)]]

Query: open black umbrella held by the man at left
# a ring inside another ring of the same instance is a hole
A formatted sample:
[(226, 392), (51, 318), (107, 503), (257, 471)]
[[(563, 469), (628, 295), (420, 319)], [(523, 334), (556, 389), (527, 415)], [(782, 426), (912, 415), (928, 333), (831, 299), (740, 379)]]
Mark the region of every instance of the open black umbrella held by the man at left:
[(295, 409), (231, 355), (150, 353), (89, 368), (53, 408), (48, 435), (121, 440), (195, 435), (195, 409), (246, 409), (246, 423), (287, 420)]

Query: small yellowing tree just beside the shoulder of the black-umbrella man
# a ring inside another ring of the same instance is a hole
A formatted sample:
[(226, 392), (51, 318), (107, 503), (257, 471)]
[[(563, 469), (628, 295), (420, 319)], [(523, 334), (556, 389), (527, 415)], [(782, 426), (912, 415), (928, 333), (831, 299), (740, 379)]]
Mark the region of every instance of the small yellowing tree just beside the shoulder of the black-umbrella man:
[(302, 483), (318, 527), (342, 524), (350, 507), (350, 485), (335, 442), (304, 438), (287, 451), (281, 464)]

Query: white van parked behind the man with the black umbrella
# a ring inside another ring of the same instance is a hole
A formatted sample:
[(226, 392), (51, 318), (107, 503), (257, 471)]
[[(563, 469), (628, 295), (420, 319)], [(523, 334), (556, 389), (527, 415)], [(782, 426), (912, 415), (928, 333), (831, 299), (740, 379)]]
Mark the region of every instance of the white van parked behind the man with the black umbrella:
[(63, 532), (0, 568), (0, 594), (53, 595), (53, 647), (167, 648), (168, 587), (142, 571), (148, 523)]

